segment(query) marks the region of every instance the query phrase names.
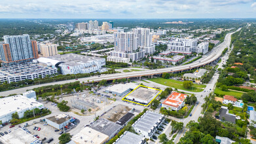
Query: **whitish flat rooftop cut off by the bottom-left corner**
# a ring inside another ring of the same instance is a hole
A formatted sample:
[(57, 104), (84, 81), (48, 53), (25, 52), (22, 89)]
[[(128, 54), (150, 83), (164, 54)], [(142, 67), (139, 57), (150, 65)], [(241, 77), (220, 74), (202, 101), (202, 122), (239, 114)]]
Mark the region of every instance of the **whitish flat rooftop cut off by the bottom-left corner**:
[(21, 128), (0, 137), (0, 143), (2, 142), (5, 144), (29, 144), (35, 141), (37, 141), (36, 137), (33, 137), (31, 134), (27, 134), (27, 132)]

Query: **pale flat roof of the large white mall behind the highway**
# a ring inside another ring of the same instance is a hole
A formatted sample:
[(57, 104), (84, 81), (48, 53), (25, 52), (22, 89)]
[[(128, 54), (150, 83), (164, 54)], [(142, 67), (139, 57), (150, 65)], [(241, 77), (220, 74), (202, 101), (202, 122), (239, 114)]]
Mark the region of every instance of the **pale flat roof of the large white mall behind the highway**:
[(62, 54), (62, 55), (50, 56), (48, 58), (52, 60), (58, 60), (60, 62), (64, 62), (62, 64), (69, 65), (69, 66), (76, 66), (76, 65), (81, 65), (83, 63), (90, 63), (94, 61), (105, 60), (104, 58), (97, 58), (93, 56), (83, 56), (81, 54)]

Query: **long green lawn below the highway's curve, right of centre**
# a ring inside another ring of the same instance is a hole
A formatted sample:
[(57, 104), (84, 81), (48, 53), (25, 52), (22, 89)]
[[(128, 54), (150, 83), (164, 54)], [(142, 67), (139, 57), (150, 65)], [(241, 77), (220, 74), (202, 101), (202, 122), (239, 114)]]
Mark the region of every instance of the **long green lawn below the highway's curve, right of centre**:
[(165, 86), (170, 86), (172, 88), (177, 88), (179, 90), (187, 90), (189, 92), (202, 92), (206, 85), (202, 84), (194, 84), (194, 86), (190, 89), (183, 88), (183, 81), (175, 81), (174, 79), (163, 79), (163, 78), (155, 78), (148, 79), (149, 81), (156, 82), (158, 84), (162, 84)]

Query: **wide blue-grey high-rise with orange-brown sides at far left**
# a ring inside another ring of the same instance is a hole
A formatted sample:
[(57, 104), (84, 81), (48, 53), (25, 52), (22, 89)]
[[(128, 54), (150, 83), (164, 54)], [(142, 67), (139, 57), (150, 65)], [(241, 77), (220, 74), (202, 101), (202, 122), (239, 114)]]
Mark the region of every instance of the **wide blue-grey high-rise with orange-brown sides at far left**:
[(37, 41), (30, 41), (29, 35), (5, 35), (0, 44), (1, 62), (11, 63), (38, 58)]

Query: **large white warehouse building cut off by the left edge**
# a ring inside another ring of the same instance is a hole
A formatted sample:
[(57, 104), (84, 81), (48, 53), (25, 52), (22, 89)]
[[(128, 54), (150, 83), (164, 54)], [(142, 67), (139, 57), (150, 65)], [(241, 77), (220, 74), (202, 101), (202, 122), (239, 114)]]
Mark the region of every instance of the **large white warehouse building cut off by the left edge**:
[(24, 112), (32, 109), (43, 109), (43, 103), (35, 101), (34, 98), (17, 95), (0, 99), (0, 123), (12, 119), (12, 113), (18, 113), (19, 118), (24, 117)]

